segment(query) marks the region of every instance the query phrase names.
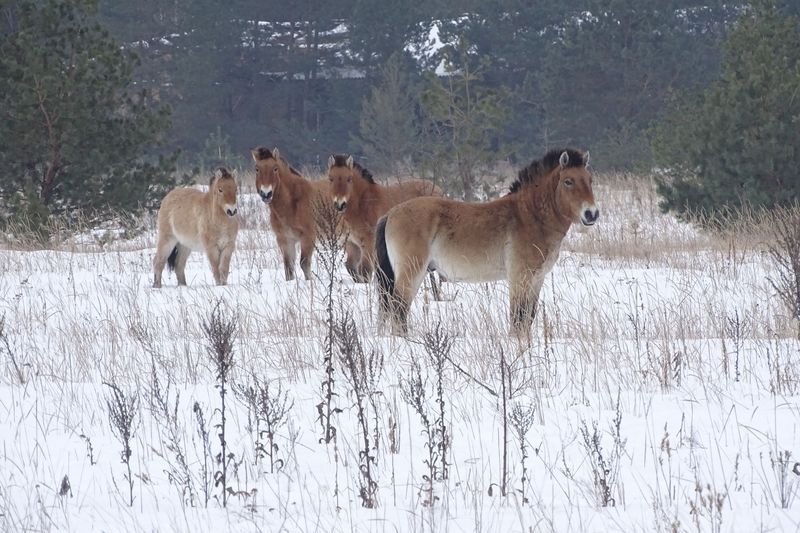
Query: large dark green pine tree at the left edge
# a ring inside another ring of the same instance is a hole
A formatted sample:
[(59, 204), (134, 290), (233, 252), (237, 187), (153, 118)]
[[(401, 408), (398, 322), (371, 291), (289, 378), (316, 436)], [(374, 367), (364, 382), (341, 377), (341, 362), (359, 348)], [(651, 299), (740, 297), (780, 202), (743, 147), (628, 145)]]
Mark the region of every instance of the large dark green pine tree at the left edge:
[(93, 22), (93, 0), (23, 0), (0, 35), (0, 217), (97, 217), (153, 207), (174, 156), (145, 151), (169, 128), (169, 110), (129, 92), (137, 66)]

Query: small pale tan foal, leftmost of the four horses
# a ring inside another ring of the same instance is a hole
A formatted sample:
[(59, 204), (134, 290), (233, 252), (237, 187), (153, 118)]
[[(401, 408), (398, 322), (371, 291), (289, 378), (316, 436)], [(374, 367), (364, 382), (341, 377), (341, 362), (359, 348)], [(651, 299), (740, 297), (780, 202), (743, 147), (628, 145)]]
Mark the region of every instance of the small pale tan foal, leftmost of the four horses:
[(239, 232), (236, 212), (236, 180), (224, 168), (214, 173), (207, 192), (192, 187), (170, 191), (158, 209), (153, 287), (161, 287), (165, 263), (178, 276), (178, 285), (186, 285), (186, 260), (203, 250), (214, 281), (225, 285)]

